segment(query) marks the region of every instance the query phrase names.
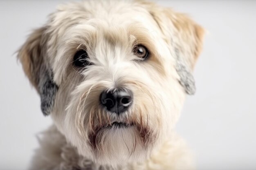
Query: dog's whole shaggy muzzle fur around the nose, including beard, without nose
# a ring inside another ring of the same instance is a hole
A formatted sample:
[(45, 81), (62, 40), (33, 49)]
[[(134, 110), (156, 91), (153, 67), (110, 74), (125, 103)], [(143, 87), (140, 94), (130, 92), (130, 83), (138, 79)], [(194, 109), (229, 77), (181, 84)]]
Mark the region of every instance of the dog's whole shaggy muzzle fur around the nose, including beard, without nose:
[(110, 113), (99, 104), (99, 95), (106, 88), (102, 84), (81, 84), (73, 93), (74, 101), (68, 106), (66, 117), (69, 128), (77, 134), (69, 136), (79, 138), (73, 144), (84, 156), (90, 151), (92, 159), (101, 164), (144, 160), (159, 135), (159, 120), (156, 114), (150, 116), (150, 112), (159, 111), (154, 103), (157, 100), (146, 91), (148, 87), (136, 83), (130, 86), (138, 95), (133, 105), (119, 115)]

